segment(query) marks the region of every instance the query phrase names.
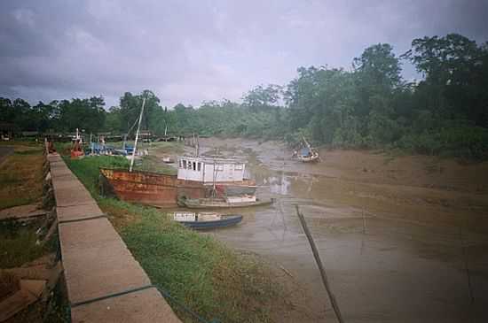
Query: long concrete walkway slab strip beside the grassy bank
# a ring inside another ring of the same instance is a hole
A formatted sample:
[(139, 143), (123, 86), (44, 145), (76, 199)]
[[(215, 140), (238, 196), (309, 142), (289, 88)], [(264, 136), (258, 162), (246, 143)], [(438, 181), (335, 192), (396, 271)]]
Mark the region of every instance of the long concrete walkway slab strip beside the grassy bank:
[(48, 160), (72, 322), (181, 322), (62, 158)]

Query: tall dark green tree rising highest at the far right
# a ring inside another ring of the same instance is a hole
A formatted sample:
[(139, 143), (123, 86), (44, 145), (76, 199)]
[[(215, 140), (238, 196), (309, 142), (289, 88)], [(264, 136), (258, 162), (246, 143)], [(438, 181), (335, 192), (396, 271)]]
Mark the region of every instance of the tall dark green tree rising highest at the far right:
[(488, 47), (458, 34), (414, 39), (403, 55), (425, 76), (418, 101), (439, 118), (488, 126)]

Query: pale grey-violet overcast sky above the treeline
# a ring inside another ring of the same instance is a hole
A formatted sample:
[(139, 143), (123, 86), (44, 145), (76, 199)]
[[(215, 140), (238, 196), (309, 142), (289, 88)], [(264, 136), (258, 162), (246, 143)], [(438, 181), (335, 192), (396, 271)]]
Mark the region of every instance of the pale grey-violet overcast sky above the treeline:
[[(488, 1), (0, 2), (0, 96), (43, 100), (152, 89), (162, 105), (239, 100), (299, 66), (350, 68), (369, 45), (488, 40)], [(414, 77), (405, 67), (405, 77)]]

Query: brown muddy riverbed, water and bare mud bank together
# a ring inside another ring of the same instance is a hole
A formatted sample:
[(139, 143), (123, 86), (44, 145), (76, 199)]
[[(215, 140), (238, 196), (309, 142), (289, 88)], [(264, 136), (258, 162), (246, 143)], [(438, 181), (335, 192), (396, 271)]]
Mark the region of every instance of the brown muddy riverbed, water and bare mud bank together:
[(280, 142), (210, 138), (201, 147), (247, 159), (258, 195), (277, 199), (209, 235), (293, 275), (306, 291), (295, 304), (308, 313), (301, 322), (335, 315), (295, 204), (346, 322), (488, 321), (487, 163), (324, 150), (307, 165)]

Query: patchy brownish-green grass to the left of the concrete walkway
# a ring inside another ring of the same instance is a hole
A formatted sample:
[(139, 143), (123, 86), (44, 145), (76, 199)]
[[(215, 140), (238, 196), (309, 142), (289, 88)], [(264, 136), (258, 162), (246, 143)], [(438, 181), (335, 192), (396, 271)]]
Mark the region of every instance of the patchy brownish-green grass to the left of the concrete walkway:
[[(7, 146), (2, 142), (2, 146)], [(35, 204), (43, 195), (43, 146), (35, 142), (9, 142), (13, 154), (0, 164), (0, 210), (24, 204)], [(47, 243), (36, 243), (36, 230), (43, 226), (43, 219), (19, 222), (11, 219), (0, 221), (0, 269), (25, 265), (55, 252), (57, 235)], [(54, 290), (55, 301), (49, 315), (46, 304), (36, 302), (20, 311), (7, 322), (67, 322), (69, 319), (66, 296), (58, 285)]]

